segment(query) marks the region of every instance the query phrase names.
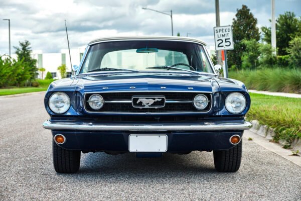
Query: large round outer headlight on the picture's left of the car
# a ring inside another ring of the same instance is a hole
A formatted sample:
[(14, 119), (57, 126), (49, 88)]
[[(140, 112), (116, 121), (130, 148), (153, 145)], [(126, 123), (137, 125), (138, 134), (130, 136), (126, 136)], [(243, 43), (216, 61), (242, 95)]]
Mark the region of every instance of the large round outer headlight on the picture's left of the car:
[(67, 112), (70, 108), (70, 103), (69, 96), (64, 92), (55, 92), (48, 100), (50, 110), (56, 114)]

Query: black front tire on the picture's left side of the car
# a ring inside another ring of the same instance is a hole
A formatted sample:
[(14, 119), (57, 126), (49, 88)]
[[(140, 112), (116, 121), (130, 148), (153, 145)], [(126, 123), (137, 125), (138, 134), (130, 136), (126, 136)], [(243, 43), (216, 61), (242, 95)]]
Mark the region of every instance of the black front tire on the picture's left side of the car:
[(79, 169), (80, 151), (67, 150), (52, 142), (53, 166), (58, 173), (75, 173)]

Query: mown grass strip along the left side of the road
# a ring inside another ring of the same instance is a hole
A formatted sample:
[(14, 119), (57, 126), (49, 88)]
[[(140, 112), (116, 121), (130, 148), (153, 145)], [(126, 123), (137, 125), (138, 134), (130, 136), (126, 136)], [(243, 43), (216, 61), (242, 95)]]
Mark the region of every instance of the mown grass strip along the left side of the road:
[(16, 87), (13, 86), (11, 88), (0, 88), (0, 95), (13, 95), (19, 93), (29, 93), (29, 92), (38, 92), (38, 91), (46, 91), (49, 84), (53, 82), (53, 79), (38, 79), (39, 87)]

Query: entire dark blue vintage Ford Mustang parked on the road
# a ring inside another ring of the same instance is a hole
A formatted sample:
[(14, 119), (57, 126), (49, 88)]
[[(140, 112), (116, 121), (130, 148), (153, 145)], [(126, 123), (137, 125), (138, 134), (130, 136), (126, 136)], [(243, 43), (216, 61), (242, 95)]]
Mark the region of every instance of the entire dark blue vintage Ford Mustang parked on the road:
[(96, 151), (213, 151), (218, 171), (239, 169), (250, 96), (242, 82), (218, 76), (202, 41), (102, 38), (73, 70), (45, 95), (57, 172), (78, 171), (81, 152)]

